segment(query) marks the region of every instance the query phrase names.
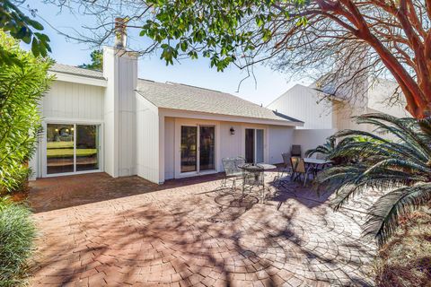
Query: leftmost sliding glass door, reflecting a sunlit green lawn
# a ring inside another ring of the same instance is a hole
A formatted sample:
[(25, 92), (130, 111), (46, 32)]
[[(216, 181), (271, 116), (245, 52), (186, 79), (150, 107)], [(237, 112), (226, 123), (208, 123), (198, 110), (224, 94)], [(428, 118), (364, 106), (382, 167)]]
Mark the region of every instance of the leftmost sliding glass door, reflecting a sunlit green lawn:
[(47, 174), (100, 170), (99, 126), (47, 125)]

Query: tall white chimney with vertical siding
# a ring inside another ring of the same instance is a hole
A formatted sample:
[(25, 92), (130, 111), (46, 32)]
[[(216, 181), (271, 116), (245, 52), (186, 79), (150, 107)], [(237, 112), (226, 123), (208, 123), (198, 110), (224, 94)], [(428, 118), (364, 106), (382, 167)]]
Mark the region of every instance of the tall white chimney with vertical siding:
[(136, 174), (136, 54), (103, 48), (105, 171), (111, 177)]

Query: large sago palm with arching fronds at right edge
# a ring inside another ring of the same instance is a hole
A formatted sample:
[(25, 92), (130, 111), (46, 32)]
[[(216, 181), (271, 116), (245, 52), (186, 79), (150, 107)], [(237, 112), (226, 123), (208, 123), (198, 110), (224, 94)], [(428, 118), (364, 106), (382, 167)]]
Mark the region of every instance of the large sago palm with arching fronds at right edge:
[[(356, 122), (374, 126), (374, 132), (341, 131), (334, 137), (345, 143), (331, 152), (331, 157), (356, 161), (334, 165), (321, 172), (318, 180), (337, 191), (335, 209), (369, 188), (384, 191), (365, 222), (365, 235), (374, 236), (382, 246), (401, 217), (431, 201), (431, 117), (367, 114), (356, 117)], [(354, 140), (357, 136), (366, 140)]]

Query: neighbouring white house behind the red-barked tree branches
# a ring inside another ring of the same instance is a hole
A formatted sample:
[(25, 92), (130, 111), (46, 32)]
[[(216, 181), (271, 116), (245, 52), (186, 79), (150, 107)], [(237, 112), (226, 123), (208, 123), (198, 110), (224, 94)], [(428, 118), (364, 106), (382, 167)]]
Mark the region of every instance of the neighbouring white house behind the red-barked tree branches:
[(372, 131), (372, 126), (357, 125), (354, 116), (381, 112), (394, 117), (411, 117), (402, 101), (388, 102), (398, 88), (397, 83), (377, 79), (373, 84), (365, 81), (356, 88), (360, 90), (357, 92), (360, 96), (345, 100), (342, 95), (334, 96), (332, 92), (316, 89), (314, 83), (310, 86), (296, 84), (267, 108), (303, 121), (303, 126), (295, 129), (293, 142), (302, 144), (303, 151), (324, 143), (328, 136), (340, 130)]

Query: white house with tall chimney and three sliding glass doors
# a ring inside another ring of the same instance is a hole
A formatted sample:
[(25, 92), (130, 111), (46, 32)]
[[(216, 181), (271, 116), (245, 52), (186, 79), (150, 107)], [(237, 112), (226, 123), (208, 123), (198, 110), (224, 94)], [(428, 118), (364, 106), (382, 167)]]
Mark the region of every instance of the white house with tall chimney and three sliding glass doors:
[(137, 55), (103, 49), (103, 72), (56, 64), (40, 102), (34, 178), (106, 172), (154, 183), (223, 171), (222, 159), (281, 162), (303, 122), (231, 94), (138, 79)]

